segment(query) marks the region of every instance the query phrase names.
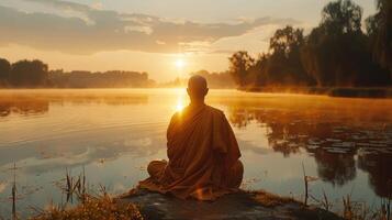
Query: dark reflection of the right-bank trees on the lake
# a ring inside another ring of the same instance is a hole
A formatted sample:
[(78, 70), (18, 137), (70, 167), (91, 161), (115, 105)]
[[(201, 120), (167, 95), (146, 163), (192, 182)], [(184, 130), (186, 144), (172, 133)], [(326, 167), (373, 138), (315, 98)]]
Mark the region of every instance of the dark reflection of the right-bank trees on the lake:
[(369, 184), (378, 196), (390, 196), (392, 113), (383, 106), (388, 101), (376, 106), (371, 100), (314, 101), (317, 99), (302, 103), (243, 100), (227, 106), (235, 127), (244, 129), (254, 121), (266, 127), (275, 152), (290, 157), (304, 150), (312, 155), (322, 180), (344, 186), (360, 168), (369, 173)]

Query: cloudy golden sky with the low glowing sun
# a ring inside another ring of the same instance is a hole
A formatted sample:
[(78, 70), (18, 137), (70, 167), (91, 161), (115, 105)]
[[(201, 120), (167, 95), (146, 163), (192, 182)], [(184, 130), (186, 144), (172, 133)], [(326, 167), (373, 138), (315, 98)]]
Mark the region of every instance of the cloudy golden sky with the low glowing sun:
[[(354, 0), (363, 18), (373, 0)], [(0, 0), (0, 57), (51, 69), (147, 72), (157, 81), (223, 72), (245, 50), (268, 51), (288, 24), (307, 33), (328, 0)]]

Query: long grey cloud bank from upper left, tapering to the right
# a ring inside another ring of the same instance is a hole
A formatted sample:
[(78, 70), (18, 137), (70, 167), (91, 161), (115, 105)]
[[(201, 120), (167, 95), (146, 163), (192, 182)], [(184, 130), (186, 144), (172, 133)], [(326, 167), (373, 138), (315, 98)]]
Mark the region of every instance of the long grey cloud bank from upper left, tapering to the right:
[(20, 44), (69, 54), (117, 50), (178, 53), (192, 51), (189, 47), (200, 42), (208, 45), (264, 25), (296, 23), (292, 19), (269, 16), (236, 23), (198, 23), (138, 13), (119, 13), (67, 1), (24, 1), (74, 13), (70, 13), (71, 16), (64, 16), (0, 6), (0, 44)]

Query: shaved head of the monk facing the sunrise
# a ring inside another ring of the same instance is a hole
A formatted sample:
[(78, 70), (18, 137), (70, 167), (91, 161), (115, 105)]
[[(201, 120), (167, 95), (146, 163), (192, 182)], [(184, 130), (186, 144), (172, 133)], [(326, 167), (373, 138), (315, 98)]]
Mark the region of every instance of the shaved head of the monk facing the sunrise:
[(205, 78), (200, 75), (189, 78), (187, 91), (191, 102), (204, 102), (204, 97), (209, 92)]

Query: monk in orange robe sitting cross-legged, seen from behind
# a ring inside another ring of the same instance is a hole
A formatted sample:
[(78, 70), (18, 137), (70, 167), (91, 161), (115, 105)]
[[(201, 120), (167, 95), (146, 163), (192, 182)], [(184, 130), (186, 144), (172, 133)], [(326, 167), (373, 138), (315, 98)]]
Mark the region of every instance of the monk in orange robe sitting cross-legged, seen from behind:
[(215, 200), (238, 190), (244, 166), (233, 130), (224, 113), (204, 103), (205, 78), (188, 81), (190, 105), (172, 116), (167, 130), (169, 161), (148, 164), (141, 188), (178, 198)]

